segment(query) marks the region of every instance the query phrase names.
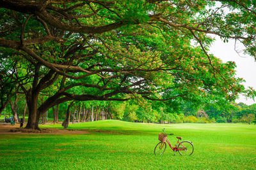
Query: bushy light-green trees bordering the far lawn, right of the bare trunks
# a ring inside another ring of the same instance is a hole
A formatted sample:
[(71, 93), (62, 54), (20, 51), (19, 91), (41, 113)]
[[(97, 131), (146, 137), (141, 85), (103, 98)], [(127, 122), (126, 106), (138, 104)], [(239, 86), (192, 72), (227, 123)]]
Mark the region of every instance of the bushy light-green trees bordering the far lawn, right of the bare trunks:
[(120, 103), (112, 107), (113, 115), (130, 122), (168, 123), (246, 123), (256, 124), (256, 104), (225, 103), (195, 105), (182, 101), (177, 106), (157, 106), (152, 104), (141, 107), (136, 104)]

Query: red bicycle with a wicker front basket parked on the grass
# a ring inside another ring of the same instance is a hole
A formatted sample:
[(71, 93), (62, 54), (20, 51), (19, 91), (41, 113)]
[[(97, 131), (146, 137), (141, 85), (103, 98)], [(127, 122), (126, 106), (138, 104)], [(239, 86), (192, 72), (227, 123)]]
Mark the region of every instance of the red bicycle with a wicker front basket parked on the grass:
[(159, 142), (156, 145), (156, 148), (154, 150), (155, 155), (162, 155), (166, 149), (166, 142), (168, 143), (168, 145), (170, 146), (170, 148), (174, 151), (174, 155), (176, 152), (179, 152), (180, 155), (192, 155), (192, 153), (194, 152), (194, 145), (191, 141), (181, 141), (179, 142), (179, 140), (182, 139), (182, 137), (176, 137), (178, 139), (177, 141), (177, 145), (175, 145), (175, 147), (173, 147), (170, 143), (170, 141), (167, 139), (167, 135), (173, 135), (173, 134), (166, 134), (166, 132), (163, 129), (163, 133), (159, 133)]

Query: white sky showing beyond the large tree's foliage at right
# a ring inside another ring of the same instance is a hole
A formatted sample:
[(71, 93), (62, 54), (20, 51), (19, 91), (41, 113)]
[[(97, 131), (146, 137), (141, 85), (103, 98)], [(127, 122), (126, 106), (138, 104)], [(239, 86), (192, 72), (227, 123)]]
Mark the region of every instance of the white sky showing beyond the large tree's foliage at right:
[[(237, 77), (243, 78), (246, 81), (243, 83), (245, 87), (253, 87), (253, 89), (256, 89), (256, 79), (254, 76), (256, 73), (256, 62), (251, 56), (245, 56), (243, 53), (238, 54), (234, 50), (234, 45), (234, 40), (230, 39), (228, 43), (223, 43), (220, 38), (216, 38), (216, 41), (210, 48), (210, 52), (213, 53), (214, 56), (223, 60), (223, 62), (236, 62)], [(256, 103), (253, 99), (246, 99), (244, 96), (240, 96), (236, 102), (243, 102), (248, 105)]]

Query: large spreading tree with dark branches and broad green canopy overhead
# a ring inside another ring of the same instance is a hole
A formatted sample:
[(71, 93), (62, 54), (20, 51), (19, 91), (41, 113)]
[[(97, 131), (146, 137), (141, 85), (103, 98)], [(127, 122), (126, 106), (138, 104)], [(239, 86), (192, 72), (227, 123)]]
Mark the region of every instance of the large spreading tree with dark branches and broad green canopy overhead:
[(19, 55), (32, 70), (33, 83), (19, 83), (26, 128), (38, 129), (45, 111), (72, 100), (236, 98), (244, 89), (234, 63), (207, 52), (208, 35), (241, 41), (255, 55), (255, 3), (220, 2), (0, 0), (1, 57)]

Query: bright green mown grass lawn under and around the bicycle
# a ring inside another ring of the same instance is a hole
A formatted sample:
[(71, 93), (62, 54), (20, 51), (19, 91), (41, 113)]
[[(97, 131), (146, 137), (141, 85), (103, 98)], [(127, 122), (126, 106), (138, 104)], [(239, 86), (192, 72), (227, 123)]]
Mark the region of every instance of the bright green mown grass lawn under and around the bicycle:
[[(168, 138), (172, 143), (175, 136), (192, 141), (193, 155), (174, 156), (169, 147), (154, 155), (164, 127), (175, 134)], [(256, 125), (101, 120), (70, 124), (69, 129), (91, 133), (0, 134), (0, 169), (256, 169)]]

